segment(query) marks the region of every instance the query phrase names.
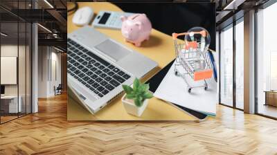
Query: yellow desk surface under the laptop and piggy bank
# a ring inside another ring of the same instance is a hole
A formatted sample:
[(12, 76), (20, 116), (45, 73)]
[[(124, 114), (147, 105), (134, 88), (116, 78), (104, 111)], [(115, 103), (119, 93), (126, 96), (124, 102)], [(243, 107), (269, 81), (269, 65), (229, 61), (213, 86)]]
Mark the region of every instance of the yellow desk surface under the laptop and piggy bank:
[[(70, 7), (73, 3), (68, 3), (67, 5)], [(95, 13), (94, 17), (96, 17), (97, 12), (100, 10), (122, 11), (114, 4), (106, 2), (79, 2), (78, 6), (79, 8), (84, 6), (93, 8)], [(68, 15), (67, 17), (68, 33), (80, 28), (72, 24), (72, 17), (73, 15)], [(150, 59), (158, 62), (159, 66), (148, 73), (142, 81), (150, 79), (154, 73), (157, 73), (157, 71), (161, 70), (175, 58), (172, 37), (163, 34), (158, 30), (152, 29), (150, 40), (143, 42), (141, 47), (136, 47), (133, 44), (124, 41), (120, 30), (105, 28), (96, 29), (128, 48), (132, 48), (135, 51), (138, 51), (139, 53), (142, 53), (143, 55), (150, 57)], [(67, 120), (197, 120), (197, 118), (190, 116), (190, 114), (180, 111), (179, 109), (176, 109), (170, 104), (157, 98), (152, 98), (149, 101), (148, 107), (145, 109), (141, 117), (132, 116), (129, 115), (123, 107), (121, 102), (122, 95), (118, 96), (118, 98), (109, 103), (109, 105), (107, 105), (104, 109), (101, 109), (95, 115), (92, 115), (89, 111), (78, 104), (78, 100), (70, 89), (68, 94)]]

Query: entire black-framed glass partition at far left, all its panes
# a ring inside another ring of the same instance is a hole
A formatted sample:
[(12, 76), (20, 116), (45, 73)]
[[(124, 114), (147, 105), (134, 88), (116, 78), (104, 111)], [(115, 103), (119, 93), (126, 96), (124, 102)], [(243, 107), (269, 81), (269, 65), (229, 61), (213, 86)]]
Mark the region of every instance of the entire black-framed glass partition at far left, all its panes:
[[(0, 5), (29, 7), (27, 1), (0, 1)], [(31, 31), (28, 21), (0, 8), (0, 124), (31, 113)]]

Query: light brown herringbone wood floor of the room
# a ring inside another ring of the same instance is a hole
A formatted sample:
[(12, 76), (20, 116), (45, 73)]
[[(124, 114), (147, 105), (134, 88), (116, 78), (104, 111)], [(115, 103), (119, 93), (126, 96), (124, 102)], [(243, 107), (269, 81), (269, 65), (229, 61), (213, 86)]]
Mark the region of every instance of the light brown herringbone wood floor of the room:
[(67, 122), (66, 95), (0, 125), (0, 154), (277, 154), (277, 121), (218, 106), (204, 122)]

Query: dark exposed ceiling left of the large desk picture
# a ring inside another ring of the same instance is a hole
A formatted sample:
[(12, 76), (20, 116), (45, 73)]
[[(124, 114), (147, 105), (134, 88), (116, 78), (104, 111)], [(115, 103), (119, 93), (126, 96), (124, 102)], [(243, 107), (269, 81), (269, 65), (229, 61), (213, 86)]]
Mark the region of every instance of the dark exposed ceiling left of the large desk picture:
[(1, 32), (8, 35), (1, 35), (1, 39), (6, 42), (19, 39), (21, 42), (30, 33), (30, 30), (26, 31), (30, 28), (26, 24), (33, 22), (40, 25), (39, 45), (57, 46), (65, 51), (66, 16), (66, 0), (1, 0)]

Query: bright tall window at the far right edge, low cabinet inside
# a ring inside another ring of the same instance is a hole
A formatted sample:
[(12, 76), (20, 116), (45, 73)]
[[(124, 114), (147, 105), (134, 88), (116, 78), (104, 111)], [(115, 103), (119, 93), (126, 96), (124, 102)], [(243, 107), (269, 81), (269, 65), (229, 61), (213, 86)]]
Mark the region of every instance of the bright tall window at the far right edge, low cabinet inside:
[(257, 12), (256, 111), (277, 118), (277, 3)]

